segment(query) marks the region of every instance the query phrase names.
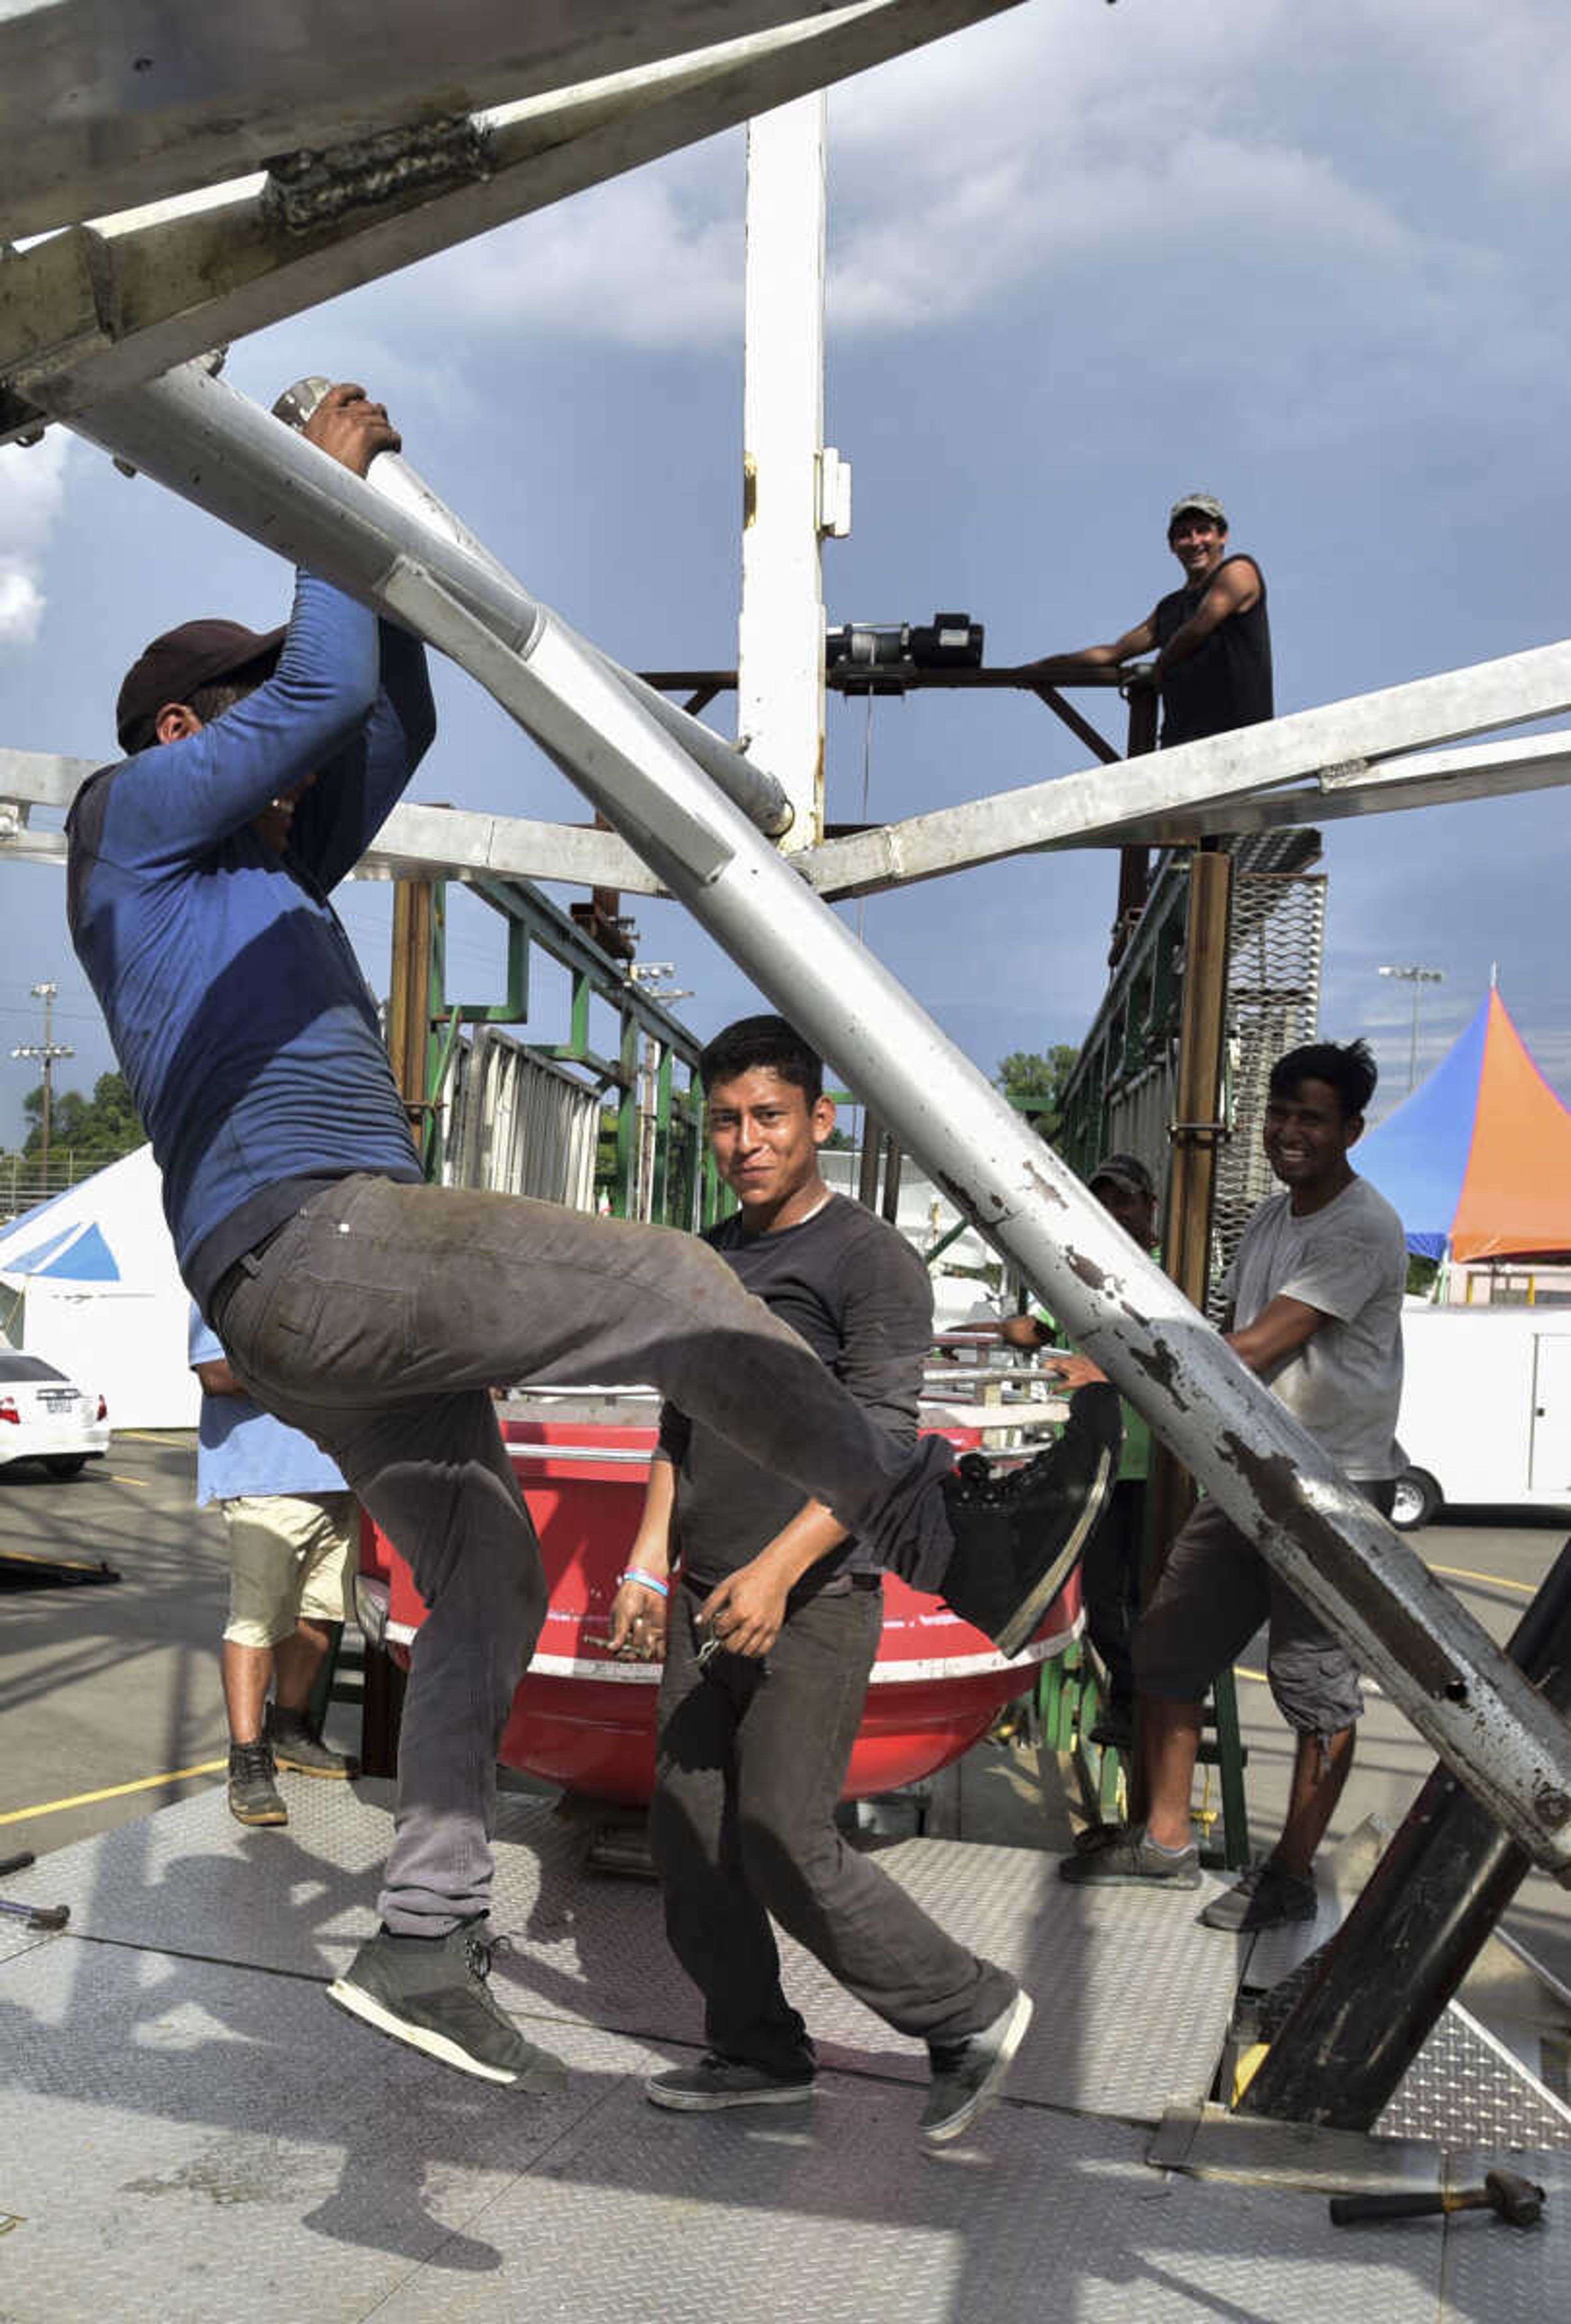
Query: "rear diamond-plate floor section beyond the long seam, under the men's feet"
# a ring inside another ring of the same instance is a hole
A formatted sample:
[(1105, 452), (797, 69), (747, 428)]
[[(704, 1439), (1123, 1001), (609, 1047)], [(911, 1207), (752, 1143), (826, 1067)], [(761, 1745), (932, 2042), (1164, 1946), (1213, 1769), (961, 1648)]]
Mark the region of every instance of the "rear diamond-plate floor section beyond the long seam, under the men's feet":
[[(297, 1783), (288, 1796), (286, 1831), (246, 1831), (221, 1787), (200, 1792), (58, 1850), (9, 1892), (67, 1903), (77, 1936), (330, 1980), (376, 1927), (390, 1785), (351, 1792)], [(665, 1943), (660, 1892), (586, 1875), (581, 1848), (581, 1834), (546, 1801), (500, 1803), (490, 1920), (516, 1954), (497, 1961), (497, 1992), (521, 2017), (697, 2043), (700, 2006)], [(1055, 1857), (1025, 1848), (899, 1841), (878, 1850), (878, 1864), (1036, 1996), (1036, 2022), (1011, 2073), (1018, 2096), (1143, 2122), (1206, 2096), (1241, 1948), (1199, 1929), (1192, 1899), (1174, 1910), (1171, 1896), (1146, 1889), (1071, 1889)], [(799, 1948), (783, 1943), (781, 1954), (825, 2057), (925, 2080), (920, 2045), (892, 2033)], [(1139, 2010), (1129, 2008), (1132, 1975)]]

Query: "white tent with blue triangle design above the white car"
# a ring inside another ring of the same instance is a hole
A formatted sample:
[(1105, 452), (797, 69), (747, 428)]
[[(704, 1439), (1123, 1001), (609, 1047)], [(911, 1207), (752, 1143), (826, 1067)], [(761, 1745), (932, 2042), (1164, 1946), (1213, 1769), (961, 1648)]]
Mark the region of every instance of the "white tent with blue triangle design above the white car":
[(195, 1427), (188, 1311), (151, 1146), (0, 1229), (5, 1336), (98, 1390), (116, 1429)]

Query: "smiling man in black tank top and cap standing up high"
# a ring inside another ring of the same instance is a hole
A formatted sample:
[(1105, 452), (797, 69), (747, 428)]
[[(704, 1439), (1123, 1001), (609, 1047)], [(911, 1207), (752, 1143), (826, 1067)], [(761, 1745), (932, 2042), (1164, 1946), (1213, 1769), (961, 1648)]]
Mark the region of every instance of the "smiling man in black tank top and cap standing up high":
[(1088, 669), (1155, 653), (1162, 693), (1162, 748), (1227, 734), (1271, 718), (1271, 627), (1267, 581), (1253, 558), (1227, 553), (1227, 511), (1211, 493), (1185, 493), (1167, 518), (1167, 546), (1183, 565), (1183, 588), (1109, 646), (1050, 655)]

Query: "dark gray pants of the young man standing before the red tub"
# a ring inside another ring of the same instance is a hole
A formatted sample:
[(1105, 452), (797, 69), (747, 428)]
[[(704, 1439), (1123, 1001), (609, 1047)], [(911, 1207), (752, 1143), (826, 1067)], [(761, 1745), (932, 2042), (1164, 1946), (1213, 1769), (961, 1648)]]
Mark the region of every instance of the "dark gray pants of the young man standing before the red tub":
[(709, 2047), (767, 2073), (811, 2066), (806, 2027), (781, 1992), (772, 1915), (899, 2033), (981, 2033), (1016, 1980), (946, 1936), (834, 1824), (883, 1592), (809, 1597), (767, 1666), (716, 1655), (700, 1671), (702, 1597), (688, 1585), (672, 1597), (648, 1843), (672, 1952), (704, 1996)]

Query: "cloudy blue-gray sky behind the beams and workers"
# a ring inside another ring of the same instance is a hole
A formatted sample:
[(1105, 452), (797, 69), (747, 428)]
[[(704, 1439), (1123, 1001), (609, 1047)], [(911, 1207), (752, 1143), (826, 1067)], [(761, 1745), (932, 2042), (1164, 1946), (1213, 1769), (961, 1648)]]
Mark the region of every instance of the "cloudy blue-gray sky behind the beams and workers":
[[(1571, 35), (1557, 0), (1030, 0), (830, 100), (827, 439), (855, 530), (830, 621), (969, 609), (988, 658), (1113, 637), (1174, 586), (1181, 490), (1218, 493), (1267, 572), (1278, 709), (1564, 637)], [(734, 660), (741, 135), (637, 172), (235, 346), (272, 395), (365, 379), (497, 555), (632, 667)], [(260, 548), (51, 432), (0, 451), (0, 739), (112, 755), (119, 676), (160, 627), (281, 618)], [(416, 795), (583, 809), (458, 672)], [(1092, 716), (1113, 697), (1083, 697)], [(725, 716), (716, 706), (716, 718)], [(1081, 765), (1034, 702), (832, 706), (830, 816), (890, 818)], [(1555, 792), (1327, 837), (1322, 1027), (1406, 1088), (1492, 962), (1571, 1097)], [(28, 985), (60, 985), (63, 1085), (109, 1062), (63, 881), (9, 867), (0, 1139), (37, 1078)], [(1104, 981), (1111, 855), (995, 867), (865, 906), (865, 937), (988, 1071), (1076, 1041)], [(386, 890), (344, 918), (386, 988)], [(641, 951), (697, 1032), (755, 1004), (676, 906)], [(944, 941), (946, 925), (953, 941)], [(451, 983), (500, 948), (455, 918)], [(548, 1006), (546, 997), (546, 1006)], [(562, 1027), (537, 1020), (539, 1039)]]

